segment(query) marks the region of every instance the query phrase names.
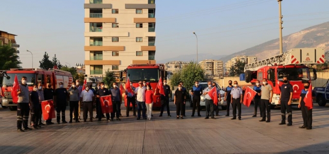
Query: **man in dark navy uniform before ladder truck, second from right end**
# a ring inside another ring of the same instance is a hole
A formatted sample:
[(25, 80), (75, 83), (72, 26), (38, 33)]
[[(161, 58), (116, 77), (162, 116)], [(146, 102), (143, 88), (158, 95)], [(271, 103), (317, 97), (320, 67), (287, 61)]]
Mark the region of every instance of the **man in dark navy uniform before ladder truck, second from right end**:
[(288, 82), (288, 77), (283, 76), (283, 85), (281, 86), (281, 93), (279, 98), (279, 104), (281, 105), (281, 123), (279, 125), (286, 124), (286, 110), (288, 115), (287, 126), (293, 125), (293, 110), (291, 110), (291, 99), (293, 99), (293, 86)]

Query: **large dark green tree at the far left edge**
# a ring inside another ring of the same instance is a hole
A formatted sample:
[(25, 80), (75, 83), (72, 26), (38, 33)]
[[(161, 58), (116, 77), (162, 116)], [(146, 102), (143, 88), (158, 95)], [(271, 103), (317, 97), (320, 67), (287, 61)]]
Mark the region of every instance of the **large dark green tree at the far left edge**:
[[(0, 42), (1, 43), (1, 42)], [(16, 55), (16, 50), (11, 47), (11, 44), (0, 45), (0, 69), (9, 70), (10, 68), (21, 68), (21, 61)]]

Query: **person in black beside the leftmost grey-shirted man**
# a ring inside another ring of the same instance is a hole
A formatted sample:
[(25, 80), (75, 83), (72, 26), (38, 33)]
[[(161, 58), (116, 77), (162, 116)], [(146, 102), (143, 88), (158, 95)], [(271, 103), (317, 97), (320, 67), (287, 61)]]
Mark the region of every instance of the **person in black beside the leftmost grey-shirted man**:
[(38, 86), (33, 85), (33, 90), (30, 93), (30, 109), (31, 109), (31, 120), (30, 126), (32, 129), (38, 129), (39, 126), (39, 112), (40, 112), (40, 100), (38, 94)]

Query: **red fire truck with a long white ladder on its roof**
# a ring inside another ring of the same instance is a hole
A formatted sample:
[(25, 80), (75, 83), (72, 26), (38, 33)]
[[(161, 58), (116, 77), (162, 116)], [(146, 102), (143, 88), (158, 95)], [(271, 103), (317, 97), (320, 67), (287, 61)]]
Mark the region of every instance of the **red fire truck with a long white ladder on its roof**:
[[(283, 76), (287, 76), (293, 86), (292, 105), (298, 105), (300, 93), (303, 89), (303, 81), (310, 83), (317, 79), (316, 70), (312, 65), (323, 64), (324, 50), (320, 48), (295, 48), (268, 59), (246, 64), (244, 79), (247, 83), (255, 84), (257, 80), (268, 80), (273, 87), (271, 108), (279, 106), (280, 87), (283, 84)], [(309, 66), (309, 67), (308, 67)], [(311, 72), (313, 76), (311, 76)]]

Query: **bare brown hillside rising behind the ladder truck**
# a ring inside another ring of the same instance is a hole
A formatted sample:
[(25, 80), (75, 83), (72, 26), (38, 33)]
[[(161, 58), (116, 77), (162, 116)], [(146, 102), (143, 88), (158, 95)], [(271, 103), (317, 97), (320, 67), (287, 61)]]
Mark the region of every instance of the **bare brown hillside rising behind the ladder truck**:
[[(324, 48), (324, 51), (327, 51), (329, 50), (329, 22), (308, 27), (299, 32), (284, 36), (282, 42), (283, 52), (292, 48), (315, 47)], [(278, 55), (279, 52), (279, 38), (277, 38), (249, 49), (235, 52), (220, 60), (226, 63), (236, 55), (252, 55), (257, 56), (258, 60), (263, 60), (264, 58)]]

